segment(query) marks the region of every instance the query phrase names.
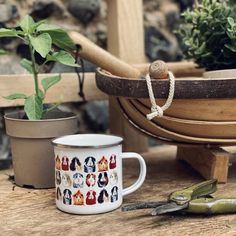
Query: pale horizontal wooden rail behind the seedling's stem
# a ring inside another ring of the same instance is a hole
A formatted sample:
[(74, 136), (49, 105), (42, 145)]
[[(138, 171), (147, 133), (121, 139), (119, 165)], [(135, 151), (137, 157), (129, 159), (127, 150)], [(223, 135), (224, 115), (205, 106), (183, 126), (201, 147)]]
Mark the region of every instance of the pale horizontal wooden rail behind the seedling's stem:
[[(47, 75), (40, 75), (40, 79)], [(52, 76), (52, 74), (50, 74)], [(50, 88), (47, 93), (46, 103), (55, 102), (79, 102), (82, 101), (78, 95), (79, 85), (78, 78), (75, 73), (61, 74), (61, 81), (54, 87)], [(7, 96), (12, 93), (25, 93), (27, 95), (34, 93), (34, 83), (31, 75), (1, 75), (0, 76), (0, 107), (12, 107), (23, 105), (23, 100), (6, 100), (2, 96)], [(107, 96), (96, 87), (94, 73), (85, 74), (84, 93), (86, 99), (102, 100), (107, 99)]]

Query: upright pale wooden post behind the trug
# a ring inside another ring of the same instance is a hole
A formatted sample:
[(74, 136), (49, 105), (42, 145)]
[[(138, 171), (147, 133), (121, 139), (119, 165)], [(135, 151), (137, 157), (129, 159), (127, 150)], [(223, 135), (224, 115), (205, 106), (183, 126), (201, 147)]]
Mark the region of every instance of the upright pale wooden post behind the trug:
[[(108, 0), (108, 50), (128, 63), (143, 63), (144, 32), (142, 0)], [(117, 101), (109, 98), (110, 130), (125, 138), (125, 150), (144, 152), (147, 139), (123, 118)]]

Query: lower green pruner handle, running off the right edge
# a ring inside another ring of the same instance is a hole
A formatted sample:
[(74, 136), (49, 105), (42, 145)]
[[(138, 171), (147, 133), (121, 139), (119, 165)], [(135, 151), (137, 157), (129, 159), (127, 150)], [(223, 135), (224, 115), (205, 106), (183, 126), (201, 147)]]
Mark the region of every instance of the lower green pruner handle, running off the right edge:
[(189, 202), (184, 212), (194, 214), (236, 213), (236, 198), (199, 198)]

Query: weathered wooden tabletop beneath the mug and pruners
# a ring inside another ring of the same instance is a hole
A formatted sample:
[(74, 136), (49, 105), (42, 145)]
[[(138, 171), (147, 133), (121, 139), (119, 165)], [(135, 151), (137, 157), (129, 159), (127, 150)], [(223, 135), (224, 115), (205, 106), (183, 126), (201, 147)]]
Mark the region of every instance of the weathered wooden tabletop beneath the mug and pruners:
[[(201, 181), (190, 167), (175, 161), (175, 153), (175, 147), (162, 146), (146, 154), (145, 184), (124, 203), (164, 200), (170, 192)], [(138, 165), (125, 163), (127, 186), (135, 180)], [(220, 185), (215, 196), (236, 197), (235, 166), (230, 167), (229, 183)], [(153, 217), (150, 210), (124, 213), (120, 209), (93, 216), (66, 214), (55, 207), (54, 189), (14, 186), (10, 174), (10, 170), (0, 172), (0, 235), (236, 235), (236, 215)]]

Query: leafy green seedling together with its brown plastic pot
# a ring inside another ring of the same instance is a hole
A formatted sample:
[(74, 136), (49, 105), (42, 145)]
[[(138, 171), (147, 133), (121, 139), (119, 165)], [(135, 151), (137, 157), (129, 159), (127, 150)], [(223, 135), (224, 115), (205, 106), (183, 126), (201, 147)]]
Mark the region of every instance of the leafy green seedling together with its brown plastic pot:
[[(25, 16), (14, 29), (0, 29), (0, 37), (18, 37), (29, 47), (30, 60), (21, 60), (32, 74), (35, 92), (32, 95), (15, 93), (6, 99), (24, 99), (24, 112), (5, 116), (6, 131), (10, 136), (15, 183), (34, 188), (54, 187), (54, 154), (51, 139), (77, 131), (77, 118), (72, 113), (58, 111), (58, 104), (45, 106), (48, 89), (58, 83), (60, 75), (51, 75), (41, 80), (38, 75), (45, 63), (57, 61), (77, 67), (70, 54), (75, 49), (68, 34), (58, 26), (45, 21), (34, 22)], [(35, 53), (44, 58), (38, 65)]]

